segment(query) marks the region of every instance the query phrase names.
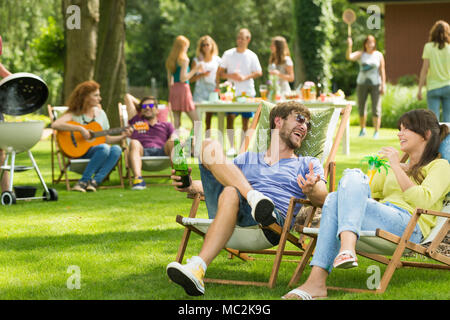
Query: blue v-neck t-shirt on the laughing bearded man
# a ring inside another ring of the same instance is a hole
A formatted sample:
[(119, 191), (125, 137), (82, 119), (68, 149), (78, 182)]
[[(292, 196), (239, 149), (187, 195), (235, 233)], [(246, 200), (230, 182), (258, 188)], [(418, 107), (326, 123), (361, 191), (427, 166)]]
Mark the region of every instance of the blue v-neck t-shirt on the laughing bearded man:
[[(303, 177), (309, 173), (309, 163), (314, 166), (314, 173), (320, 174), (323, 181), (323, 167), (319, 159), (314, 157), (298, 157), (281, 159), (269, 166), (264, 162), (265, 153), (246, 152), (234, 159), (234, 164), (241, 169), (253, 189), (262, 192), (275, 204), (280, 213), (286, 217), (291, 197), (306, 199), (302, 189), (298, 186), (297, 176)], [(294, 216), (301, 205), (297, 205)]]

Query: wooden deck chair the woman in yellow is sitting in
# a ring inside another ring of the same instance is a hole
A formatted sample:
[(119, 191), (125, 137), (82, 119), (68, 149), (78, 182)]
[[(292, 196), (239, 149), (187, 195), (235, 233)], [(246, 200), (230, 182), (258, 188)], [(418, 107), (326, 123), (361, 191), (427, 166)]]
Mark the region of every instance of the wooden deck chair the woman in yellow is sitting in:
[[(444, 148), (446, 150), (444, 150)], [(450, 162), (450, 135), (441, 143), (440, 153), (443, 158)], [(402, 161), (406, 161), (407, 157), (403, 157)], [(436, 225), (431, 230), (430, 234), (420, 244), (415, 244), (408, 241), (420, 215), (428, 214), (436, 216)], [(303, 255), (298, 264), (294, 274), (289, 282), (289, 286), (295, 286), (299, 281), (312, 252), (317, 242), (319, 228), (299, 227), (297, 229), (302, 234), (312, 237), (313, 240), (308, 245), (306, 253)], [(418, 267), (418, 268), (432, 268), (450, 270), (450, 257), (440, 254), (436, 251), (442, 240), (450, 231), (450, 193), (447, 194), (444, 205), (441, 211), (432, 211), (417, 208), (411, 216), (411, 220), (407, 225), (401, 237), (389, 233), (385, 230), (377, 229), (376, 231), (361, 231), (360, 238), (356, 244), (356, 253), (363, 257), (378, 261), (387, 265), (380, 284), (376, 289), (357, 289), (357, 288), (342, 288), (342, 287), (328, 287), (331, 290), (343, 290), (349, 292), (370, 292), (370, 293), (384, 293), (392, 279), (396, 269), (401, 267)], [(428, 247), (426, 246), (428, 245)], [(404, 253), (415, 252), (427, 258), (440, 262), (425, 263), (412, 262), (401, 260)], [(389, 258), (390, 257), (390, 258)]]

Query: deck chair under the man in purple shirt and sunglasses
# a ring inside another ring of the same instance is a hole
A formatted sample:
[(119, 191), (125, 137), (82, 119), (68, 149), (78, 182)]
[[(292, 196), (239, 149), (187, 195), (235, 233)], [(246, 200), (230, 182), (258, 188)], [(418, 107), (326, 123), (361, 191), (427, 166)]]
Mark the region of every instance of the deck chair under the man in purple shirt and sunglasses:
[[(120, 126), (125, 127), (128, 125), (128, 111), (127, 106), (119, 102), (119, 118), (120, 118)], [(124, 140), (124, 144), (122, 147), (124, 148), (124, 157), (125, 157), (125, 179), (128, 179), (128, 183), (130, 187), (133, 185), (133, 174), (131, 170), (131, 165), (129, 163), (129, 139)], [(164, 169), (167, 169), (171, 166), (170, 157), (169, 156), (143, 156), (141, 157), (142, 161), (142, 171), (151, 171), (157, 172)], [(170, 179), (170, 174), (147, 174), (142, 175), (145, 178), (166, 178)], [(169, 183), (167, 183), (169, 184)]]

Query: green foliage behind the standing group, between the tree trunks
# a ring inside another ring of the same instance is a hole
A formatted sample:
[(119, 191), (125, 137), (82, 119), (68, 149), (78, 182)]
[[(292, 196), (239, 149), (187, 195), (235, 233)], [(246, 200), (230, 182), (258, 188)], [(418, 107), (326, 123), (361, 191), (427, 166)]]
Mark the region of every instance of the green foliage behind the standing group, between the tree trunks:
[[(172, 42), (179, 34), (190, 40), (188, 55), (195, 57), (197, 40), (209, 34), (219, 47), (219, 55), (236, 46), (240, 28), (252, 33), (249, 48), (254, 51), (263, 67), (267, 80), (270, 41), (282, 35), (293, 45), (293, 17), (290, 0), (129, 0), (127, 4), (127, 68), (129, 83), (148, 86), (151, 77), (165, 87), (167, 98), (165, 59)], [(291, 50), (291, 53), (293, 51)], [(264, 80), (265, 79), (265, 80)]]

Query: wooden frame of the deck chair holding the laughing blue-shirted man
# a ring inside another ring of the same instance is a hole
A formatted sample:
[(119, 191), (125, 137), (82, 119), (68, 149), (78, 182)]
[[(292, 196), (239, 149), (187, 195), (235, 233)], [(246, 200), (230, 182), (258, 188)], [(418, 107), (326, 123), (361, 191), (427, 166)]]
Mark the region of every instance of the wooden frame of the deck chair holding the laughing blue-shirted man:
[[(343, 137), (344, 134), (344, 130), (345, 130), (345, 126), (346, 123), (350, 117), (350, 112), (351, 112), (351, 105), (348, 105), (346, 108), (343, 108), (341, 110), (341, 121), (340, 121), (340, 125), (338, 127), (337, 133), (335, 135), (334, 141), (333, 141), (333, 145), (331, 147), (330, 153), (327, 157), (327, 161), (325, 164), (325, 177), (328, 177), (328, 182), (329, 182), (329, 189), (330, 191), (334, 190), (334, 184), (335, 184), (335, 171), (336, 171), (336, 164), (334, 162), (334, 158), (336, 156), (337, 153), (337, 149), (339, 147), (340, 141)], [(250, 132), (253, 132), (256, 128), (256, 125), (259, 121), (261, 115), (261, 105), (259, 106), (258, 110), (255, 113), (254, 119), (252, 121), (252, 125), (251, 125), (251, 129), (253, 129)], [(243, 143), (243, 147), (241, 148), (241, 152), (244, 152), (245, 150), (247, 150), (248, 146), (249, 146), (249, 141), (250, 141), (251, 137), (246, 137), (244, 139), (244, 143)], [(188, 198), (192, 198), (193, 202), (191, 205), (191, 209), (189, 212), (189, 218), (195, 218), (198, 207), (201, 203), (202, 200), (204, 200), (204, 197), (200, 194), (195, 194), (195, 195), (188, 195)], [(284, 227), (280, 227), (278, 224), (274, 223), (271, 224), (269, 226), (267, 226), (266, 228), (269, 230), (272, 230), (273, 232), (277, 233), (280, 235), (280, 242), (276, 248), (276, 250), (274, 249), (265, 249), (265, 250), (255, 250), (255, 251), (240, 251), (240, 250), (235, 250), (235, 249), (231, 249), (231, 248), (224, 248), (224, 250), (226, 250), (227, 252), (230, 253), (231, 256), (236, 256), (244, 261), (247, 260), (254, 260), (253, 257), (248, 256), (247, 254), (265, 254), (265, 255), (274, 255), (274, 262), (273, 262), (273, 266), (272, 266), (272, 270), (271, 270), (271, 274), (269, 277), (269, 280), (267, 282), (262, 282), (262, 281), (239, 281), (239, 280), (227, 280), (227, 279), (210, 279), (210, 278), (205, 278), (204, 281), (205, 282), (210, 282), (210, 283), (220, 283), (220, 284), (234, 284), (234, 285), (252, 285), (252, 286), (265, 286), (268, 288), (273, 288), (276, 284), (276, 279), (278, 276), (278, 271), (280, 269), (280, 265), (281, 265), (281, 261), (283, 256), (302, 256), (304, 254), (304, 252), (308, 253), (307, 250), (311, 250), (311, 246), (308, 247), (304, 247), (304, 242), (302, 238), (296, 237), (294, 234), (292, 234), (289, 230), (289, 226), (291, 225), (292, 219), (294, 219), (294, 208), (295, 205), (297, 203), (301, 203), (301, 204), (309, 204), (311, 205), (311, 203), (308, 200), (304, 200), (304, 199), (297, 199), (295, 197), (292, 197), (290, 200), (290, 204), (289, 204), (289, 208), (288, 208), (288, 212), (286, 214), (286, 219), (285, 219), (285, 223), (284, 223)], [(308, 214), (308, 216), (306, 217), (306, 221), (305, 221), (305, 225), (309, 225), (312, 222), (312, 218), (314, 217), (314, 214), (316, 212), (317, 208), (313, 208), (313, 210)], [(199, 230), (198, 228), (196, 228), (193, 225), (189, 225), (184, 223), (183, 221), (183, 217), (182, 216), (177, 216), (176, 221), (181, 224), (182, 226), (185, 227), (184, 233), (183, 233), (183, 237), (181, 239), (181, 243), (180, 246), (178, 248), (178, 252), (177, 252), (177, 256), (176, 256), (176, 261), (179, 263), (182, 263), (183, 261), (183, 257), (184, 254), (186, 252), (186, 248), (187, 248), (187, 244), (189, 241), (189, 237), (191, 232), (197, 233), (199, 235), (201, 235), (202, 237), (205, 236), (205, 233), (202, 232), (201, 230)], [(313, 238), (314, 241), (314, 238)], [(295, 245), (299, 250), (285, 250), (286, 247), (286, 243), (290, 242), (293, 245)], [(306, 251), (305, 251), (306, 250)], [(298, 262), (298, 260), (296, 261)]]

